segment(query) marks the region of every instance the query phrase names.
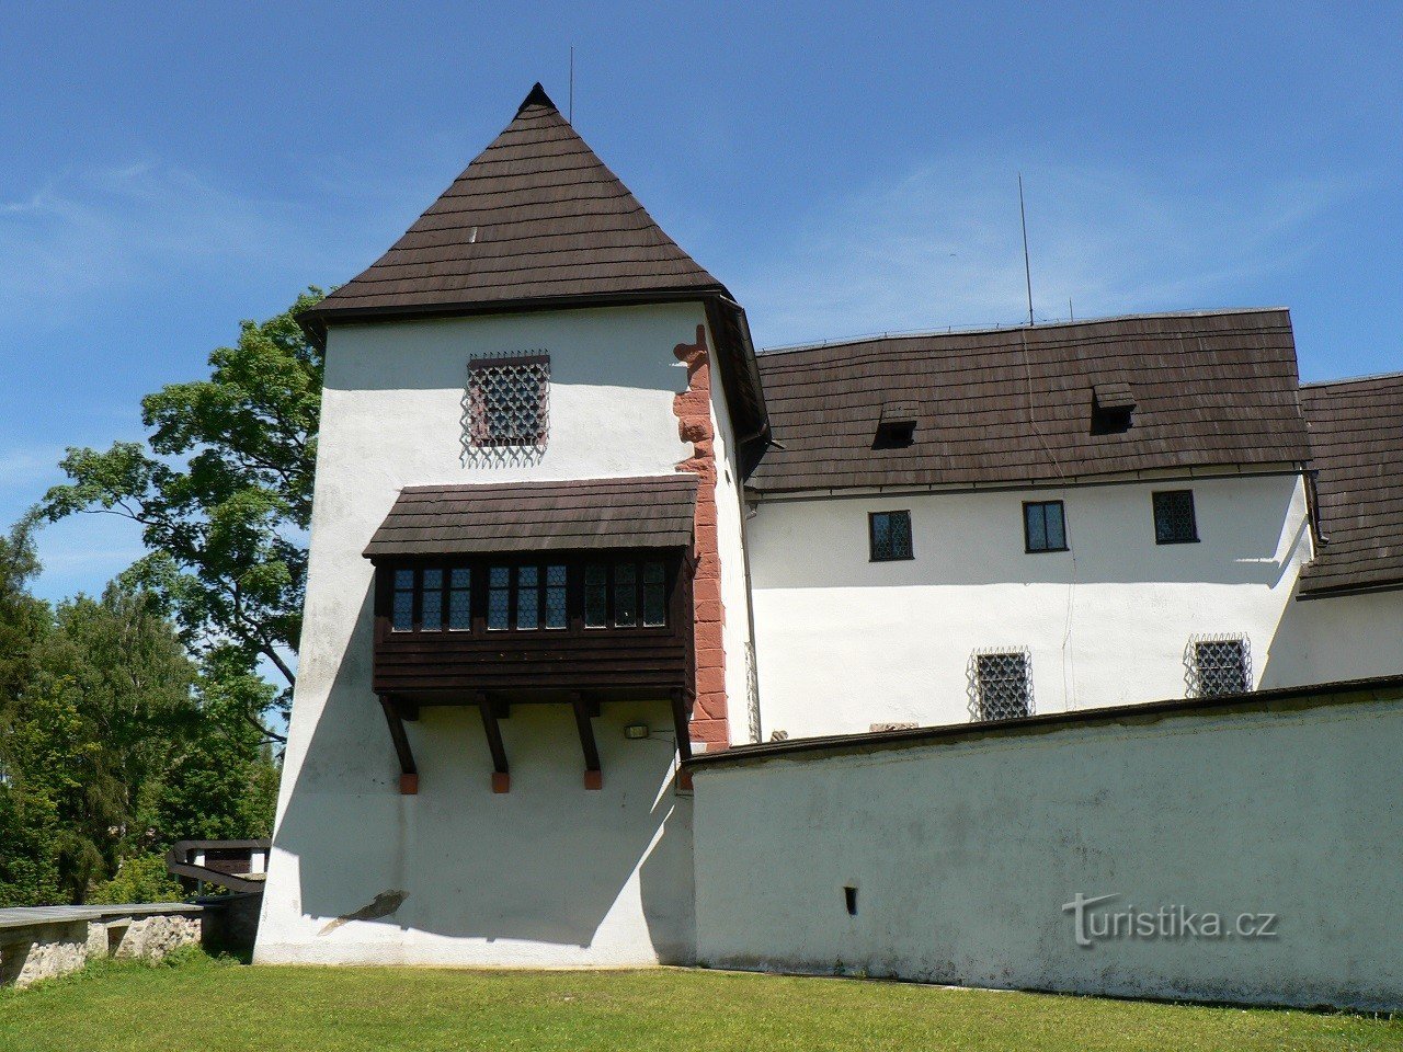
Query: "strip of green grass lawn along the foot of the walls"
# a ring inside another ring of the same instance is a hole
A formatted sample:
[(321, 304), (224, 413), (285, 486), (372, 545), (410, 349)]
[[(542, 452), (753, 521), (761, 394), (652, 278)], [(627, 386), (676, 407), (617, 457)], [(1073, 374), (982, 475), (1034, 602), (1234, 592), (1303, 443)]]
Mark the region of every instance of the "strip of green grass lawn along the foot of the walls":
[(1403, 1020), (655, 969), (100, 964), (0, 992), (4, 1052), (1369, 1049)]

